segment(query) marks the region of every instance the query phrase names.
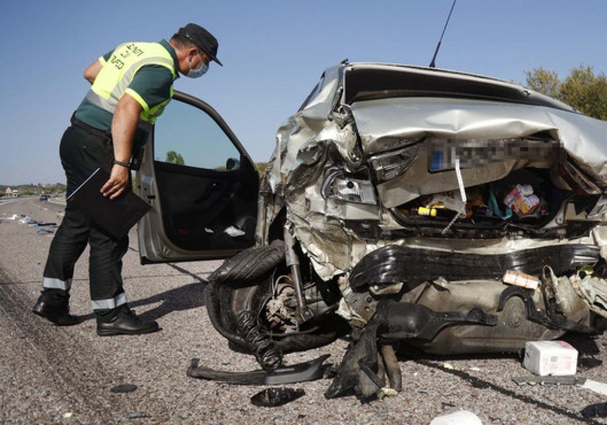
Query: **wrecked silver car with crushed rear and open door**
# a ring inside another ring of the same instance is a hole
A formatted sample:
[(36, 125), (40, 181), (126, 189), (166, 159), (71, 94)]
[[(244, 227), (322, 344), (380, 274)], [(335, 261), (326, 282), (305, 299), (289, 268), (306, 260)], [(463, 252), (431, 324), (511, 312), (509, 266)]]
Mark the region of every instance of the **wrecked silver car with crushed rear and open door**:
[[(209, 278), (206, 306), (264, 369), (350, 335), (326, 396), (366, 397), (400, 389), (396, 344), (517, 352), (607, 328), (605, 121), (493, 78), (342, 63), (279, 128), (257, 211), (243, 201), (257, 189), (250, 159), (229, 139), (236, 167), (207, 169), (198, 176), (220, 183), (187, 189), (221, 208), (197, 216), (200, 205), (174, 202), (183, 194), (143, 185), (162, 202), (140, 224), (141, 253), (246, 248)], [(163, 217), (175, 209), (185, 215)]]

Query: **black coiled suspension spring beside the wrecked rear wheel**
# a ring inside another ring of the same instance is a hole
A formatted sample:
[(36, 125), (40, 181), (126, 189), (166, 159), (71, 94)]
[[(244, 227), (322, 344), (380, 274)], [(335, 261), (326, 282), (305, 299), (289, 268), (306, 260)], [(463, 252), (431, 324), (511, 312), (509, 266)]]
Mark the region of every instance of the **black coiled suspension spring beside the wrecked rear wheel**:
[(243, 310), (236, 316), (236, 325), (240, 336), (249, 345), (249, 350), (265, 370), (274, 370), (282, 365), (282, 352), (274, 341), (263, 332), (263, 326), (251, 310)]

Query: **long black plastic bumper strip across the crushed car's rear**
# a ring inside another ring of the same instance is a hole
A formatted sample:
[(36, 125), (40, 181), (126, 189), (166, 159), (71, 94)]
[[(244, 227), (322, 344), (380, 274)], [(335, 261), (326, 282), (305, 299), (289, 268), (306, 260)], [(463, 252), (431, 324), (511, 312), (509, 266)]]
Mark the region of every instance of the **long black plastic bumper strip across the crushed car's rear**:
[(594, 245), (555, 245), (483, 255), (452, 253), (388, 245), (364, 256), (350, 274), (354, 290), (370, 284), (419, 284), (444, 277), (447, 281), (501, 279), (507, 270), (540, 275), (548, 265), (558, 275), (600, 259)]

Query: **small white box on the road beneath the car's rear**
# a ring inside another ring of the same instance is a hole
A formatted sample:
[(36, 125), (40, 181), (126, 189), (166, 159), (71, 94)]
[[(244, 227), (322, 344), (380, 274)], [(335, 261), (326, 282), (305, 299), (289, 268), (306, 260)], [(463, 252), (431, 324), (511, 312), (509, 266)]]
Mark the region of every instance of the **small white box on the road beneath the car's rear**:
[(530, 341), (523, 366), (536, 375), (575, 375), (577, 350), (565, 341)]

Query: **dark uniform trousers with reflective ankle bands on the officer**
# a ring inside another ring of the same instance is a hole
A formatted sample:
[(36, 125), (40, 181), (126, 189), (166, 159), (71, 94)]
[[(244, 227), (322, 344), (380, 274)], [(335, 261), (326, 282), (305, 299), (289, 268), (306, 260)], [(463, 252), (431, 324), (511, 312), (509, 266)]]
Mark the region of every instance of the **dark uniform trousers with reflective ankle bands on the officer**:
[[(66, 172), (68, 196), (95, 169), (111, 169), (114, 161), (108, 138), (74, 126), (64, 132), (59, 156)], [(129, 246), (128, 236), (114, 239), (78, 209), (70, 208), (69, 202), (63, 222), (50, 245), (42, 287), (44, 291), (69, 296), (74, 265), (87, 244), (90, 245), (89, 286), (93, 311), (107, 313), (126, 304), (121, 272), (122, 257)]]

